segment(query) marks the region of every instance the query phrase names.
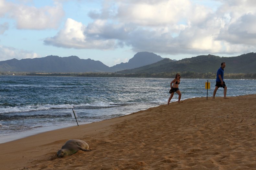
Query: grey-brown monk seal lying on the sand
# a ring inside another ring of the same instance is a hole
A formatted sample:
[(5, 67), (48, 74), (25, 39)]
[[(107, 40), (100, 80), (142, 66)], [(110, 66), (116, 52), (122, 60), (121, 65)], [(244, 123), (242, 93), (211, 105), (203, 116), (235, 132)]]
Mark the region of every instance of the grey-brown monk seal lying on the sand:
[(59, 158), (63, 158), (67, 155), (72, 155), (75, 154), (78, 150), (82, 150), (82, 151), (91, 151), (89, 148), (89, 145), (82, 140), (78, 140), (78, 139), (71, 139), (68, 140), (62, 147), (60, 150), (58, 150), (57, 152), (57, 156)]

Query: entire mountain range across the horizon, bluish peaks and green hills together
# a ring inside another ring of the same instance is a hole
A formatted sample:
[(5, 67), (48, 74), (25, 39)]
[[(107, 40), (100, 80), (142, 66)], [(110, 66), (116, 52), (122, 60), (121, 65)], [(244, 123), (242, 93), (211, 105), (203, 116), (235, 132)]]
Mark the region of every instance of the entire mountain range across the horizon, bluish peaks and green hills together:
[(226, 62), (225, 73), (256, 73), (256, 53), (248, 53), (234, 57), (215, 55), (199, 55), (181, 60), (162, 58), (149, 52), (139, 52), (127, 63), (109, 67), (100, 61), (80, 59), (77, 56), (59, 57), (46, 56), (34, 59), (11, 59), (0, 61), (2, 72), (43, 72), (43, 73), (85, 73), (85, 72), (116, 72), (133, 73), (170, 73), (196, 72), (215, 73), (222, 62)]

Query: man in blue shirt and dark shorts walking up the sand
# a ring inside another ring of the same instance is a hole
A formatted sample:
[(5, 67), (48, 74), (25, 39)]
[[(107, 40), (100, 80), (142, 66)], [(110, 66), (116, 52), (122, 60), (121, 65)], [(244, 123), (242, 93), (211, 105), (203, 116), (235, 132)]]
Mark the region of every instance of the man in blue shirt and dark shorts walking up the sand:
[(217, 71), (217, 76), (216, 76), (216, 85), (215, 85), (215, 89), (213, 91), (213, 98), (215, 98), (216, 92), (218, 90), (219, 87), (224, 88), (224, 99), (227, 99), (227, 86), (225, 84), (224, 80), (224, 68), (226, 67), (226, 63), (221, 63), (221, 67), (218, 69)]

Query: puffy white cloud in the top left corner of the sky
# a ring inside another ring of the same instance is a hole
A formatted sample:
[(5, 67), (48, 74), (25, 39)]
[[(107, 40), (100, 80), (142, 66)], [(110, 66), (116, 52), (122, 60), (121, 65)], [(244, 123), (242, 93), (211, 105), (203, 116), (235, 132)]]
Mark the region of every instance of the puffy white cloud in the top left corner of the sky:
[(53, 6), (37, 8), (25, 5), (30, 0), (19, 0), (20, 4), (0, 0), (0, 17), (15, 19), (18, 29), (56, 29), (59, 27), (65, 13), (61, 3)]

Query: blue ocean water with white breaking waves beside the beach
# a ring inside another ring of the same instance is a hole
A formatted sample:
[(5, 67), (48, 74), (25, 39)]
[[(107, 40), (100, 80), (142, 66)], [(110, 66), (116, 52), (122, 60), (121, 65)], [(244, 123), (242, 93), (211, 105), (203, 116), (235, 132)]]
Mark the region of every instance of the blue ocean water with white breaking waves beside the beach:
[[(171, 81), (164, 78), (0, 75), (0, 143), (167, 104)], [(212, 97), (215, 79), (208, 81), (208, 97)], [(224, 81), (227, 97), (256, 94), (256, 80)], [(206, 79), (182, 79), (181, 75), (181, 100), (206, 97), (205, 82)], [(223, 97), (223, 88), (217, 91), (218, 96)], [(171, 102), (176, 101), (177, 94)], [(78, 115), (77, 123), (72, 118), (72, 109)]]

